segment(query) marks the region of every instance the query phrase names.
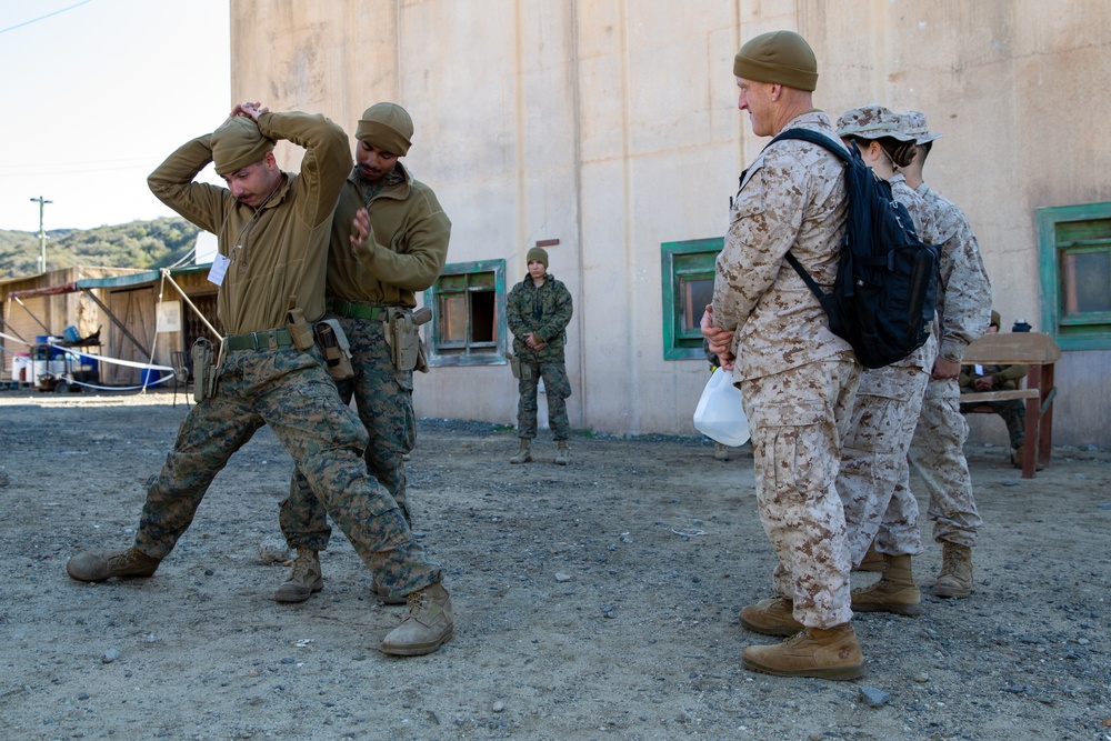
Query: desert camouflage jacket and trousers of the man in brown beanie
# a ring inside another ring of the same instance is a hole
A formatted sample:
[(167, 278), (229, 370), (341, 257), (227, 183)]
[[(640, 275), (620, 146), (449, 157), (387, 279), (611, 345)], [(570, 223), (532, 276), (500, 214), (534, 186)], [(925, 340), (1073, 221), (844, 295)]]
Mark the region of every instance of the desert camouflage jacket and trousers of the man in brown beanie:
[[(838, 141), (820, 111), (784, 128)], [(814, 628), (852, 618), (835, 481), (860, 364), (784, 256), (790, 250), (829, 290), (845, 206), (832, 153), (797, 140), (768, 147), (742, 176), (713, 286), (714, 322), (734, 330), (733, 380), (752, 431), (760, 518), (779, 557), (773, 587)]]

